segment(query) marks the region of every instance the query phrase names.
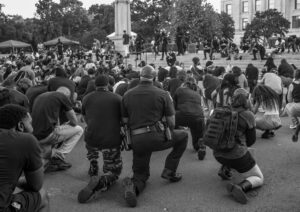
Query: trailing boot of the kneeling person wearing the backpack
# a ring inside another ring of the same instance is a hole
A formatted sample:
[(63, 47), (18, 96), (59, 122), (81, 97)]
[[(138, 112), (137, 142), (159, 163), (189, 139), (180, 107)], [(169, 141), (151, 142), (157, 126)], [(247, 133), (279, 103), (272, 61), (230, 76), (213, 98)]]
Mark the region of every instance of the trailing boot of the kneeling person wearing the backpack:
[(246, 195), (247, 191), (252, 189), (252, 184), (248, 180), (244, 180), (239, 184), (229, 183), (227, 185), (227, 191), (233, 196), (235, 201), (241, 204), (247, 204), (248, 198)]

